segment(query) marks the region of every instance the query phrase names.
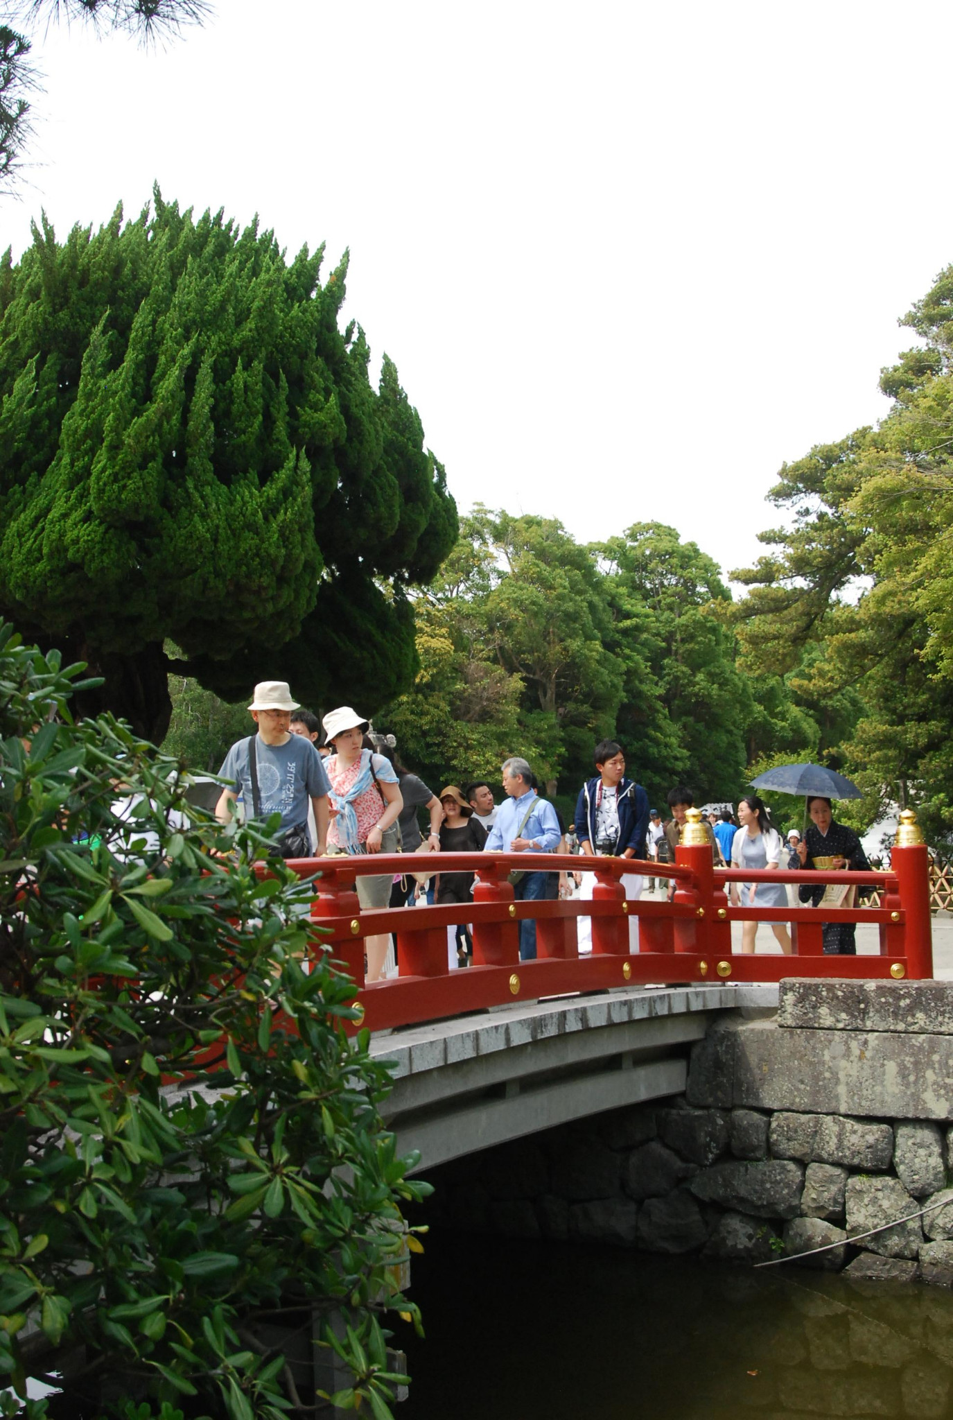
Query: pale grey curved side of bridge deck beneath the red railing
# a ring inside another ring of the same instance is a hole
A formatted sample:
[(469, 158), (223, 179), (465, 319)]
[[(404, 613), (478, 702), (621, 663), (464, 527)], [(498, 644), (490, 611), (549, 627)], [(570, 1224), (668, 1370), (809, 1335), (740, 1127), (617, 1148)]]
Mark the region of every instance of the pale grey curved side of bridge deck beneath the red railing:
[(514, 1003), (378, 1032), (396, 1061), (385, 1118), (420, 1169), (572, 1119), (685, 1092), (689, 1051), (720, 1012), (777, 1010), (778, 987), (692, 985)]

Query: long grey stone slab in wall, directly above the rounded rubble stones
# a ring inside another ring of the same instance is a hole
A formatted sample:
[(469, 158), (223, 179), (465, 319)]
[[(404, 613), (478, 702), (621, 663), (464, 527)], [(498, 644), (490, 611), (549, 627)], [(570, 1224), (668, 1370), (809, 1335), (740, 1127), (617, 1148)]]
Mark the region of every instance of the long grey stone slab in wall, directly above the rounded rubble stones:
[(953, 1119), (953, 1037), (727, 1021), (692, 1056), (692, 1105)]

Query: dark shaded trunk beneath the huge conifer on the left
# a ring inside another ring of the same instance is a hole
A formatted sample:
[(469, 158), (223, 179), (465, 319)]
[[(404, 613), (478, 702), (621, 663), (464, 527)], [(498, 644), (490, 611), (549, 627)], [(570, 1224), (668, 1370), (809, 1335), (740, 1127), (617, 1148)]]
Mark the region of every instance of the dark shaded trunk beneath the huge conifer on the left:
[(72, 700), (77, 717), (92, 717), (102, 710), (128, 720), (143, 740), (162, 744), (169, 733), (172, 700), (169, 670), (172, 662), (159, 642), (149, 642), (132, 656), (102, 652), (85, 636), (57, 638), (64, 663), (85, 660), (87, 674), (102, 676), (104, 684), (80, 690)]

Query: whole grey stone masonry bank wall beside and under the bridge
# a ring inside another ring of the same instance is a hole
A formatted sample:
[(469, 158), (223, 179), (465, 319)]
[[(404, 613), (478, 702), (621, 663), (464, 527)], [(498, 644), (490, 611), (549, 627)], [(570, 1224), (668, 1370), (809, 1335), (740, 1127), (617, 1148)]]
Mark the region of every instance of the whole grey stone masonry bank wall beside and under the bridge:
[(709, 1031), (685, 1098), (432, 1177), (436, 1224), (746, 1264), (834, 1242), (801, 1265), (953, 1287), (953, 985), (783, 983), (775, 1018)]

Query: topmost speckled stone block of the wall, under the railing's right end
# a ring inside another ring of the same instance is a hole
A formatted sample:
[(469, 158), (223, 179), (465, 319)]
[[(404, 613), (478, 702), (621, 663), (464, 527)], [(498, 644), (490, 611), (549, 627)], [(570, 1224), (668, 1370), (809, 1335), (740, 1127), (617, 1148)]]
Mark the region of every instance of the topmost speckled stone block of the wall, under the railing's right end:
[(946, 981), (781, 981), (777, 1022), (819, 1031), (953, 1035)]

